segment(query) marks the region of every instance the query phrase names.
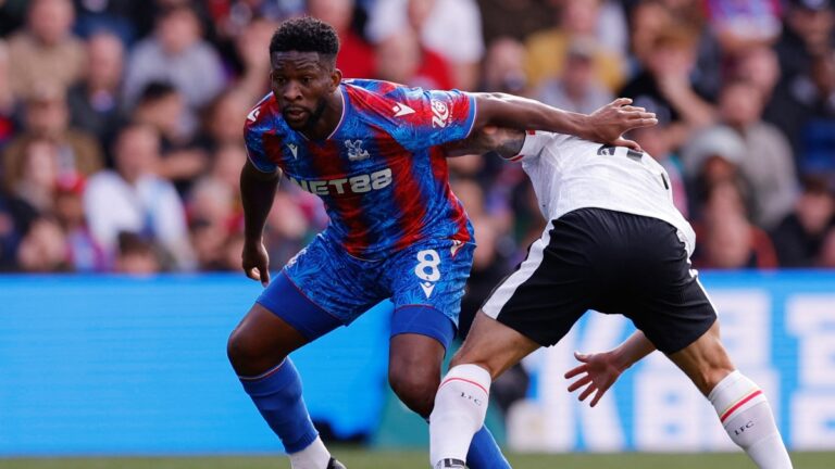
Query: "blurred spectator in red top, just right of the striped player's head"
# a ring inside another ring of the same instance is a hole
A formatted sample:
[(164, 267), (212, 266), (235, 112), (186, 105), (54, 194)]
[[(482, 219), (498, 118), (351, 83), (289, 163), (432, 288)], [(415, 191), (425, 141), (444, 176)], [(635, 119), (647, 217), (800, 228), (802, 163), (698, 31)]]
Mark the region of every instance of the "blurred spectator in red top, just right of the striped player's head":
[(353, 0), (308, 0), (308, 13), (333, 26), (339, 35), (336, 66), (342, 76), (371, 78), (376, 72), (374, 49), (352, 27), (354, 3)]

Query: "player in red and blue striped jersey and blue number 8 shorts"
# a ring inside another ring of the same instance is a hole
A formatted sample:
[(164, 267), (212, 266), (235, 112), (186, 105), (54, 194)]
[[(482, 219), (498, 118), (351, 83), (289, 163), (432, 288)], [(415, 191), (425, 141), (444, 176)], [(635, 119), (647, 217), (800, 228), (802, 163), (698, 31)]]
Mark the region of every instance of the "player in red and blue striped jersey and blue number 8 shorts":
[[(270, 45), (272, 92), (245, 127), (242, 266), (266, 288), (233, 331), (228, 355), (294, 469), (342, 466), (319, 439), (287, 355), (385, 299), (395, 304), (391, 388), (423, 417), (432, 411), (475, 245), (439, 145), (499, 125), (636, 147), (621, 134), (656, 122), (628, 100), (584, 115), (506, 94), (342, 81), (338, 48), (322, 22), (283, 23)], [(262, 230), (282, 175), (322, 198), (331, 221), (270, 282)], [(472, 446), (473, 468), (509, 467), (486, 429)]]

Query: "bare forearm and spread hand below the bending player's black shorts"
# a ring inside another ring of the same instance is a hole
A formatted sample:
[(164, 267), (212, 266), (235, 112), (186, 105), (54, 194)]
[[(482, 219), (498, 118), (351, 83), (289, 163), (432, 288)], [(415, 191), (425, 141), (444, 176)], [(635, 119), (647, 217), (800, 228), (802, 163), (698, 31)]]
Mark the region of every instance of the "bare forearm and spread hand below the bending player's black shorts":
[(595, 397), (591, 398), (590, 403), (591, 407), (594, 407), (600, 401), (600, 397), (606, 394), (606, 391), (614, 384), (623, 370), (655, 350), (656, 346), (644, 335), (644, 332), (635, 331), (622, 344), (609, 352), (596, 354), (574, 352), (574, 357), (583, 364), (565, 373), (565, 379), (578, 377), (569, 385), (569, 392), (586, 386), (577, 398), (585, 401), (591, 393), (595, 393)]

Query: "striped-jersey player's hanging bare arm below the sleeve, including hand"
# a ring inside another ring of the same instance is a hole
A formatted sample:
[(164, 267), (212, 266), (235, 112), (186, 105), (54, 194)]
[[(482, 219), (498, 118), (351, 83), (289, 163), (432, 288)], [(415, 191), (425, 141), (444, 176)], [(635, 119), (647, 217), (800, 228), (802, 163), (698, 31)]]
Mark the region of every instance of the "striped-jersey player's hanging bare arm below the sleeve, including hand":
[(240, 170), (240, 200), (244, 205), (244, 253), (241, 265), (247, 277), (266, 287), (270, 283), (270, 257), (262, 234), (282, 170), (264, 173), (247, 160)]

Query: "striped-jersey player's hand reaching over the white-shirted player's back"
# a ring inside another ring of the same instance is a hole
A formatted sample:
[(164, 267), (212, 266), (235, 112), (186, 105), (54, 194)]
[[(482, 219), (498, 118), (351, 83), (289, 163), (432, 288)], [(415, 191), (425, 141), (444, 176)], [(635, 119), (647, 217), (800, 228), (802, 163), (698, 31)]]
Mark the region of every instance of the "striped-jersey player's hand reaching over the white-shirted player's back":
[(637, 142), (624, 139), (624, 132), (658, 124), (656, 114), (644, 107), (633, 106), (628, 98), (618, 98), (609, 104), (588, 115), (588, 136), (586, 140), (609, 143), (616, 147), (627, 147), (640, 151)]

